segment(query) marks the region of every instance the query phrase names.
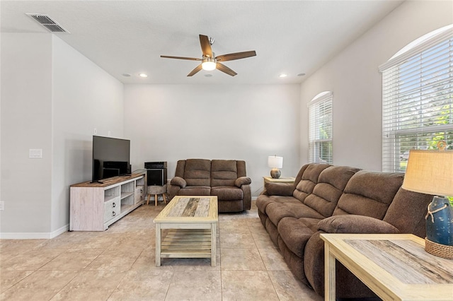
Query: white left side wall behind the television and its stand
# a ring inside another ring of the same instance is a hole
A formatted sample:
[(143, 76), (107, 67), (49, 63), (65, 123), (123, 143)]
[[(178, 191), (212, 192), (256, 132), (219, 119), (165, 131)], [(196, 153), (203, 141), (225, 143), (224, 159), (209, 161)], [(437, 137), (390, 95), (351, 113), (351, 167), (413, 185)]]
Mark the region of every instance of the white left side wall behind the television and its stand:
[(51, 230), (59, 232), (69, 223), (69, 186), (91, 179), (94, 129), (122, 138), (123, 84), (59, 37), (52, 41)]

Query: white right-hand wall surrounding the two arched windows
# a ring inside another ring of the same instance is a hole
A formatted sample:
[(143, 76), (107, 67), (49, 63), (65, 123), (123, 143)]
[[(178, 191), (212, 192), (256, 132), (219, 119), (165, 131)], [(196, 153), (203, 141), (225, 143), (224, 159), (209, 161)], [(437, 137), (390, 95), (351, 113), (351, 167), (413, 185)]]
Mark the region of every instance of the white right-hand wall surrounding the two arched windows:
[[(319, 92), (333, 92), (333, 164), (382, 170), (382, 76), (379, 65), (430, 31), (453, 23), (452, 1), (405, 1), (301, 86), (301, 117)], [(308, 124), (301, 124), (302, 136)], [(302, 138), (301, 164), (308, 161)]]

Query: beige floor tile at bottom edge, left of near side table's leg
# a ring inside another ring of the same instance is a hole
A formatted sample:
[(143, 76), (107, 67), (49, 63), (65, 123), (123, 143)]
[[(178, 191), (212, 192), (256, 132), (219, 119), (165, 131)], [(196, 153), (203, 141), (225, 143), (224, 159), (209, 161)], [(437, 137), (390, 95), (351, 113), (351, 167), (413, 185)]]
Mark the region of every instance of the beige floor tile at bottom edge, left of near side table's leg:
[(297, 280), (291, 271), (268, 271), (280, 301), (314, 300), (322, 301), (314, 290)]

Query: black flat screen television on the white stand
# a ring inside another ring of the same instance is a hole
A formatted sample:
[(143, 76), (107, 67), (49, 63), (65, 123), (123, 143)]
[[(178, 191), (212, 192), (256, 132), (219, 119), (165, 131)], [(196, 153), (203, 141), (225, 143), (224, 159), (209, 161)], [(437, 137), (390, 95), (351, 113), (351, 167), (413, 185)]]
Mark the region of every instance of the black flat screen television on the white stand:
[(93, 178), (130, 175), (130, 140), (93, 136)]

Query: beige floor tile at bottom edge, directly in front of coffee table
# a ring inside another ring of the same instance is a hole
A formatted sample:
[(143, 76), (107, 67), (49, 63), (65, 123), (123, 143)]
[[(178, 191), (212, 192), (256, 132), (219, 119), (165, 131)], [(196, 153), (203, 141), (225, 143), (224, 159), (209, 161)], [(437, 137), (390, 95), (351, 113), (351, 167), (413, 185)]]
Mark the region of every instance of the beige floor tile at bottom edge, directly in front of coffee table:
[(165, 300), (222, 300), (220, 271), (175, 271)]

